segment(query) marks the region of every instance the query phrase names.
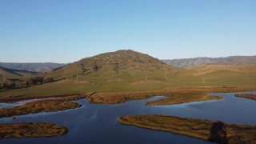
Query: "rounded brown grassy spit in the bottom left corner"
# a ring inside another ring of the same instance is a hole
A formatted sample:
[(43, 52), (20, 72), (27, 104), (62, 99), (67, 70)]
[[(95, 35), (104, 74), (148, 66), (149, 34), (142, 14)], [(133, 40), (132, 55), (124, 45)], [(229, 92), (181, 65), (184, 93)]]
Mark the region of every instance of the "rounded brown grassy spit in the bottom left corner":
[(67, 132), (68, 129), (65, 126), (58, 126), (48, 122), (0, 124), (0, 139), (54, 137)]

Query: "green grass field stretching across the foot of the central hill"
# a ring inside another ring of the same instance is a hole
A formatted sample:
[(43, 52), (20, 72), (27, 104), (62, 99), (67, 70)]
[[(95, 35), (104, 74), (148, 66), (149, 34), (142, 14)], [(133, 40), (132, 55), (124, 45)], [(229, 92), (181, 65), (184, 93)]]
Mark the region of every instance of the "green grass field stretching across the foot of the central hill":
[[(142, 91), (142, 90), (165, 90), (184, 86), (250, 86), (256, 87), (256, 74), (241, 74), (230, 71), (219, 71), (202, 76), (187, 74), (186, 70), (173, 73), (162, 73), (162, 70), (151, 72), (131, 72), (124, 70), (119, 74), (108, 71), (98, 71), (93, 74), (79, 75), (77, 78), (68, 78), (59, 82), (46, 83), (38, 86), (17, 90), (2, 90), (0, 98), (22, 96), (44, 96), (55, 94), (78, 94), (86, 92), (118, 92), (118, 91)], [(166, 75), (166, 78), (165, 78)], [(134, 82), (154, 80), (161, 83)], [(205, 82), (203, 82), (203, 77)]]

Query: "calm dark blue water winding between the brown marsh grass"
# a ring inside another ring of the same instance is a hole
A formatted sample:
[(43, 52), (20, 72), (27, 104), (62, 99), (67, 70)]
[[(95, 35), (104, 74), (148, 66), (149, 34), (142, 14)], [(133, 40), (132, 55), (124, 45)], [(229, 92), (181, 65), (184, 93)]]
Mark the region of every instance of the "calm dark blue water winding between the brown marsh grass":
[[(256, 94), (256, 92), (251, 92)], [(4, 143), (208, 143), (197, 138), (169, 132), (124, 126), (116, 118), (130, 114), (167, 114), (181, 117), (203, 118), (223, 122), (256, 125), (256, 101), (236, 98), (234, 94), (209, 94), (224, 97), (222, 100), (190, 102), (173, 106), (144, 106), (162, 96), (129, 101), (117, 105), (94, 105), (86, 99), (78, 100), (82, 107), (55, 113), (18, 116), (16, 119), (1, 118), (6, 122), (53, 122), (66, 126), (69, 132), (53, 138), (11, 138)]]

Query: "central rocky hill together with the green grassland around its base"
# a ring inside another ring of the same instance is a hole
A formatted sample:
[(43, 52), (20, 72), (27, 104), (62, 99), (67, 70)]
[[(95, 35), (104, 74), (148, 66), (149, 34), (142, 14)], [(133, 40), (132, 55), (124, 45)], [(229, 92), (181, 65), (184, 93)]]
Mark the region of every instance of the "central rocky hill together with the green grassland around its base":
[(206, 65), (190, 69), (167, 65), (157, 58), (133, 50), (118, 50), (60, 67), (45, 74), (58, 82), (0, 92), (44, 96), (85, 92), (166, 90), (188, 86), (256, 86), (255, 65)]

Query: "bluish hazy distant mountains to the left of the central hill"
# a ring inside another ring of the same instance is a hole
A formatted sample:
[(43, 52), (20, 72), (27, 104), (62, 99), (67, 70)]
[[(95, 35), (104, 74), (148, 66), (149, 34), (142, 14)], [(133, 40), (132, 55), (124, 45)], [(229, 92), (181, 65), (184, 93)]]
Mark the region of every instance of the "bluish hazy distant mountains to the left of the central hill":
[(62, 63), (11, 63), (11, 62), (0, 62), (0, 66), (13, 69), (13, 70), (26, 70), (38, 73), (45, 73), (54, 70), (58, 67), (66, 66)]

